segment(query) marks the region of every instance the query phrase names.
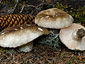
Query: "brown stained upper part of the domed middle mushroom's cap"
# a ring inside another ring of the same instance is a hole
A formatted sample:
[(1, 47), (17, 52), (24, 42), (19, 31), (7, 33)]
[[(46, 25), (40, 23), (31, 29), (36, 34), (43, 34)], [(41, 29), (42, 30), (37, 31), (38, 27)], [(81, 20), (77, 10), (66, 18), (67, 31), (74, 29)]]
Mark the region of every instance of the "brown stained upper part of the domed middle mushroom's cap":
[(44, 19), (51, 19), (55, 21), (58, 18), (63, 19), (63, 18), (69, 17), (69, 15), (60, 9), (53, 8), (53, 9), (43, 10), (37, 15), (37, 19), (42, 18), (42, 17)]

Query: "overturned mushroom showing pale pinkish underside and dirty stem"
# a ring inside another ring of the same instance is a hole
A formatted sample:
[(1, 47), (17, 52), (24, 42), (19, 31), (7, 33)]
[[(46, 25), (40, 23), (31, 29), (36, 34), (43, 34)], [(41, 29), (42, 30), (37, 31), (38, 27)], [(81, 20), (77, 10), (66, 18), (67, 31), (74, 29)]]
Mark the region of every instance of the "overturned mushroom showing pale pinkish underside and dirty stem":
[(59, 33), (60, 40), (71, 50), (85, 50), (85, 27), (73, 23), (67, 28), (63, 28)]

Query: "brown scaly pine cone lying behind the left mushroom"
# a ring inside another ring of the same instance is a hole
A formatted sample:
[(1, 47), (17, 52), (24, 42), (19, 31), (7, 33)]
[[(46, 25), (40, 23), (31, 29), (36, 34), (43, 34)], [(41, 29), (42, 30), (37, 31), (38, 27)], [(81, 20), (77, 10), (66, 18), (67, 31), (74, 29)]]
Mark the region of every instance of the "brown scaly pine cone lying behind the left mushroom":
[(34, 16), (24, 14), (0, 16), (0, 30), (22, 24), (34, 24)]

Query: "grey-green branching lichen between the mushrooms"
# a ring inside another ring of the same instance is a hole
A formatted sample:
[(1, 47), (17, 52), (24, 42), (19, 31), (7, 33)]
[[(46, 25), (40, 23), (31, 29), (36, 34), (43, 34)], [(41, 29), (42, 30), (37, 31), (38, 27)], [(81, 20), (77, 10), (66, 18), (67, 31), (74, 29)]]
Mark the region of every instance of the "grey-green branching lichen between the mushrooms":
[(54, 49), (56, 49), (57, 47), (60, 47), (61, 45), (61, 42), (59, 40), (59, 33), (56, 31), (59, 31), (59, 30), (50, 30), (49, 35), (41, 36), (36, 41), (41, 44), (52, 46)]

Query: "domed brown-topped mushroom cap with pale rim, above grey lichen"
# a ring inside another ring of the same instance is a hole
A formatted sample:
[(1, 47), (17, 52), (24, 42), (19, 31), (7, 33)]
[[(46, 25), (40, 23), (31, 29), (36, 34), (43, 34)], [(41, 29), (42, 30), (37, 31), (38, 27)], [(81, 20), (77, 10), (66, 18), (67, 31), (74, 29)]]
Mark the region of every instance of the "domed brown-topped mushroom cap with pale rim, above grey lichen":
[(72, 16), (58, 8), (43, 10), (35, 17), (37, 25), (47, 28), (65, 28), (70, 26), (72, 22)]

